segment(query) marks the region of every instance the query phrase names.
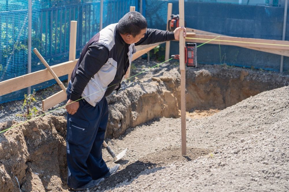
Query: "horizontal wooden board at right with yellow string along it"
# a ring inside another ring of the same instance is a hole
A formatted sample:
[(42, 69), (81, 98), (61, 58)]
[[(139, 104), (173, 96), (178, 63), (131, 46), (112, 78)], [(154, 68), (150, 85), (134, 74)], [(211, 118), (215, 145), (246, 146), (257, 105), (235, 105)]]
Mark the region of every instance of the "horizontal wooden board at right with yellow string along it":
[[(196, 34), (196, 35), (187, 35), (187, 37), (196, 38), (196, 39), (186, 39), (186, 41), (188, 41), (188, 42), (202, 43), (204, 41), (214, 39), (218, 36), (217, 35), (199, 35), (199, 34)], [(215, 39), (213, 41), (210, 41), (210, 44), (289, 50), (289, 41), (270, 40), (270, 39), (253, 39), (253, 38), (243, 38), (243, 37), (221, 36), (221, 37), (218, 37), (217, 39)]]

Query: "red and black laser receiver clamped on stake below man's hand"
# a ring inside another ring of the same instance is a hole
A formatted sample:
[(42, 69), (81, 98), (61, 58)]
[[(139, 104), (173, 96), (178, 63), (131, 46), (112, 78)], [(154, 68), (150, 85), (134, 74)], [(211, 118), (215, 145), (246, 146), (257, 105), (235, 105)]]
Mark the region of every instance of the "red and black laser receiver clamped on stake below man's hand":
[[(172, 55), (173, 59), (180, 59), (180, 55)], [(197, 43), (187, 43), (185, 47), (185, 63), (187, 67), (197, 67)]]

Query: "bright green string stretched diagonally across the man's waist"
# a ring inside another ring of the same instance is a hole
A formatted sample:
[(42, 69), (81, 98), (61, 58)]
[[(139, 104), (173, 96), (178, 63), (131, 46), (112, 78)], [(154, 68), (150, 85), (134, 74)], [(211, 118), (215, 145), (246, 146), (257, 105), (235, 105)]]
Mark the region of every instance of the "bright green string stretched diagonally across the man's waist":
[[(218, 37), (220, 37), (220, 36), (218, 36)], [(216, 38), (218, 38), (218, 37), (215, 37), (214, 39), (216, 39)], [(188, 39), (188, 37), (187, 37), (187, 39)], [(204, 44), (206, 44), (206, 43), (208, 43), (208, 42), (210, 42), (210, 41), (213, 41), (214, 39), (210, 39), (209, 41), (207, 41), (207, 42), (205, 42), (205, 43), (202, 43), (201, 45), (198, 45), (197, 47), (200, 47), (200, 46), (202, 46), (202, 45), (204, 45)], [(170, 58), (170, 59), (168, 59), (168, 60), (166, 60), (166, 61), (164, 61), (164, 62), (162, 62), (162, 63), (159, 63), (159, 64), (157, 64), (157, 65), (155, 65), (155, 66), (153, 66), (153, 67), (151, 67), (151, 68), (149, 68), (149, 69), (146, 69), (146, 70), (144, 70), (144, 71), (142, 71), (142, 72), (140, 72), (140, 73), (138, 73), (138, 74), (136, 74), (136, 75), (133, 75), (133, 76), (127, 78), (127, 79), (124, 79), (124, 80), (122, 80), (121, 82), (126, 81), (126, 80), (128, 80), (128, 79), (131, 79), (131, 78), (133, 78), (133, 77), (135, 77), (135, 76), (137, 76), (137, 75), (140, 75), (141, 73), (144, 73), (144, 72), (146, 72), (146, 71), (148, 71), (148, 70), (150, 70), (150, 69), (153, 69), (153, 68), (155, 68), (155, 67), (157, 67), (157, 66), (159, 66), (159, 65), (161, 65), (161, 64), (163, 64), (163, 63), (165, 63), (165, 62), (168, 62), (169, 60), (172, 60), (172, 59), (173, 59), (173, 58)], [(119, 82), (119, 83), (121, 83), (121, 82)], [(116, 84), (114, 84), (114, 85), (117, 85), (117, 84), (118, 84), (118, 83), (116, 83)], [(111, 85), (111, 86), (109, 86), (108, 88), (110, 88), (110, 87), (112, 87), (112, 86), (114, 86), (114, 85)], [(105, 88), (105, 89), (107, 89), (107, 88)], [(102, 90), (105, 90), (105, 89), (102, 89)], [(102, 91), (102, 90), (99, 90), (99, 91), (97, 91), (97, 92), (100, 92), (100, 91)], [(95, 93), (97, 93), (97, 92), (95, 92)], [(92, 93), (92, 94), (95, 94), (95, 93)], [(92, 94), (90, 94), (90, 95), (92, 95)], [(90, 96), (90, 95), (88, 95), (88, 96)], [(88, 97), (88, 96), (86, 96), (86, 97)], [(83, 97), (83, 98), (86, 98), (86, 97)], [(77, 101), (79, 101), (79, 100), (81, 100), (81, 99), (83, 99), (83, 98), (80, 98), (80, 99), (78, 99), (78, 100), (76, 100), (76, 101), (73, 101), (73, 102), (71, 102), (71, 103), (77, 102)], [(69, 103), (69, 104), (71, 104), (71, 103)], [(24, 121), (24, 122), (22, 122), (22, 123), (20, 123), (20, 124), (18, 124), (18, 125), (15, 125), (15, 126), (12, 126), (12, 127), (8, 128), (8, 129), (2, 130), (2, 131), (0, 131), (0, 133), (6, 132), (6, 131), (8, 131), (8, 130), (10, 130), (10, 129), (12, 129), (12, 128), (15, 128), (15, 127), (18, 127), (18, 126), (20, 126), (20, 125), (23, 125), (24, 123), (27, 123), (27, 122), (29, 122), (29, 121), (31, 121), (31, 120), (33, 120), (33, 119), (38, 118), (38, 117), (44, 116), (44, 115), (46, 115), (46, 114), (48, 114), (48, 113), (51, 113), (51, 112), (53, 112), (53, 111), (55, 111), (55, 110), (57, 110), (57, 109), (62, 108), (62, 107), (66, 107), (66, 105), (69, 105), (69, 104), (65, 104), (65, 105), (63, 105), (63, 106), (61, 106), (61, 107), (58, 107), (58, 108), (53, 109), (53, 110), (51, 110), (51, 111), (48, 111), (47, 113), (44, 113), (44, 114), (42, 114), (42, 115), (39, 115), (39, 116), (37, 116), (37, 117), (33, 117), (32, 119), (29, 119), (29, 120), (27, 120), (27, 121)]]

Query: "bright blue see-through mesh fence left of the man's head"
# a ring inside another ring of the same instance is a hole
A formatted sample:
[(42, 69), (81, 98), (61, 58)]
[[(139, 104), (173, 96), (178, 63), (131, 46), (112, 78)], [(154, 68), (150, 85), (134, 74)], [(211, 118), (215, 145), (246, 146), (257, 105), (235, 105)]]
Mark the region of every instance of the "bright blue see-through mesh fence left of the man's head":
[[(118, 22), (138, 0), (104, 0), (103, 27)], [(32, 0), (32, 49), (49, 65), (68, 61), (70, 21), (77, 21), (76, 58), (86, 42), (99, 32), (100, 0)], [(0, 0), (0, 81), (27, 74), (28, 1)], [(32, 52), (31, 71), (45, 69)], [(67, 75), (60, 77), (67, 79)], [(32, 86), (43, 89), (56, 83)], [(27, 89), (0, 96), (0, 103), (23, 99)]]

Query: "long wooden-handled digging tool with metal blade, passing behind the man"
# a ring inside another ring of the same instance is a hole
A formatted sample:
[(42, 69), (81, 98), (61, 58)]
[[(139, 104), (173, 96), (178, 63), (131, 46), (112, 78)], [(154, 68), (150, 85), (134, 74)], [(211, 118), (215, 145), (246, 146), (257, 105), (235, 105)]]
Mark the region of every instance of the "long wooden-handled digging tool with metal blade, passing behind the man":
[[(54, 73), (54, 71), (51, 69), (51, 67), (48, 65), (48, 63), (45, 61), (45, 59), (42, 57), (42, 55), (38, 52), (36, 48), (33, 49), (34, 53), (37, 55), (37, 57), (40, 59), (40, 61), (46, 66), (48, 71), (51, 73), (51, 75), (54, 77), (54, 79), (57, 81), (58, 85), (62, 88), (62, 90), (66, 93), (66, 88), (62, 84), (62, 82), (59, 80), (57, 75)], [(113, 162), (119, 161), (123, 156), (125, 156), (125, 153), (127, 151), (127, 148), (123, 150), (121, 153), (118, 155), (115, 155), (115, 153), (110, 149), (110, 147), (107, 145), (105, 141), (103, 141), (102, 145), (105, 147), (106, 150), (108, 150), (108, 153), (112, 156)]]

